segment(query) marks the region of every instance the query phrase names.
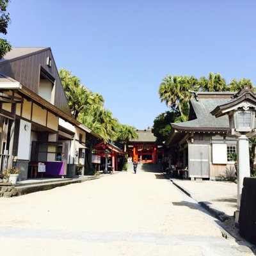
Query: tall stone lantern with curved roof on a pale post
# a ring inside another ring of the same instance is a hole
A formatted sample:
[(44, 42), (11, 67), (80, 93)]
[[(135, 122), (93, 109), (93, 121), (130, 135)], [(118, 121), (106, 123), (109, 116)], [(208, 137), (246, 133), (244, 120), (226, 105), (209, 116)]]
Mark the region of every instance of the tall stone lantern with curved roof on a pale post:
[(237, 137), (237, 211), (238, 221), (244, 177), (250, 177), (248, 138), (255, 133), (256, 96), (250, 86), (245, 85), (232, 99), (211, 111), (216, 117), (228, 115), (230, 133)]

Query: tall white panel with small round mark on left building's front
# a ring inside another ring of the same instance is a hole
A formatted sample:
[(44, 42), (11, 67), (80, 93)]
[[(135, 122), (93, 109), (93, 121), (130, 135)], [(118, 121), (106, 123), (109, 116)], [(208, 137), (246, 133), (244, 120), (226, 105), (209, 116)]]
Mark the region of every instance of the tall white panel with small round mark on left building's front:
[[(26, 125), (26, 130), (25, 130)], [(31, 136), (31, 124), (24, 120), (20, 120), (19, 131), (19, 144), (18, 144), (18, 159), (29, 160), (30, 157), (30, 136)]]

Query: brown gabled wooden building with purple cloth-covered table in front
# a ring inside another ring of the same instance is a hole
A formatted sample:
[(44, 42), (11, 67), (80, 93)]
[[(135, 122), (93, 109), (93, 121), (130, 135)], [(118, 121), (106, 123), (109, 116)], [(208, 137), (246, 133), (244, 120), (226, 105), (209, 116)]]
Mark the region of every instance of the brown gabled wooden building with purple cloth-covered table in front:
[[(13, 48), (0, 61), (0, 172), (17, 166), (19, 179), (84, 172), (86, 136), (70, 113), (50, 48)], [(39, 173), (40, 174), (40, 173)]]

